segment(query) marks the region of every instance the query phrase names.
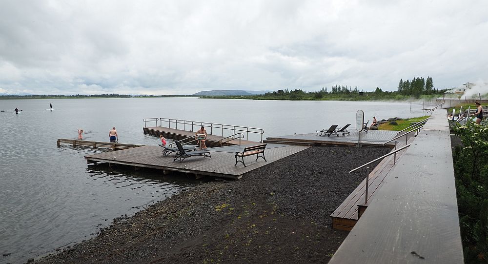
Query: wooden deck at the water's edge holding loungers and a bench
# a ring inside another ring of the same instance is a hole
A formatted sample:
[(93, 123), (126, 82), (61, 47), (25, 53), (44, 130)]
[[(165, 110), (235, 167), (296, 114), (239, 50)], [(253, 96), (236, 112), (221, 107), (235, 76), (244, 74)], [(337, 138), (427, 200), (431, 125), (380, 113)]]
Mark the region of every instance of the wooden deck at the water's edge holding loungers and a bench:
[[(252, 145), (252, 144), (251, 144)], [(163, 148), (160, 146), (141, 146), (131, 149), (104, 152), (85, 156), (88, 163), (108, 162), (114, 164), (130, 165), (135, 167), (146, 167), (160, 169), (163, 173), (178, 171), (195, 175), (196, 178), (203, 176), (215, 176), (228, 179), (241, 179), (243, 174), (256, 168), (275, 162), (289, 155), (300, 152), (307, 147), (297, 145), (267, 144), (264, 156), (266, 161), (255, 157), (245, 157), (247, 167), (241, 163), (234, 166), (236, 151), (243, 151), (245, 145), (224, 146), (208, 148), (212, 159), (201, 156), (186, 158), (183, 162), (173, 162), (174, 155), (163, 157)]]

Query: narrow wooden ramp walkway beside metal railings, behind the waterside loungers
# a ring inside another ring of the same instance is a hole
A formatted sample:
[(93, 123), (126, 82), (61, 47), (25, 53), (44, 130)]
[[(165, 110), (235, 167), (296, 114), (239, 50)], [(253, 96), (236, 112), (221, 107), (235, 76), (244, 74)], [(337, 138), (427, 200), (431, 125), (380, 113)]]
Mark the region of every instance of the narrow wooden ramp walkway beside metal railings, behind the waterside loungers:
[[(147, 134), (156, 135), (156, 136), (163, 135), (165, 138), (178, 140), (178, 141), (183, 140), (183, 139), (188, 138), (188, 137), (195, 136), (195, 132), (192, 132), (192, 131), (186, 131), (186, 130), (180, 130), (180, 129), (162, 127), (162, 126), (143, 127), (142, 130), (144, 133), (147, 133)], [(207, 131), (207, 133), (208, 133), (208, 131)], [(207, 140), (205, 141), (205, 144), (208, 147), (220, 147), (222, 145), (220, 144), (219, 141), (224, 139), (224, 138), (225, 137), (208, 134)], [(241, 139), (241, 142), (240, 142), (241, 145), (257, 144), (257, 143), (258, 142), (246, 141), (243, 139)], [(228, 142), (228, 145), (239, 145), (239, 139), (235, 139), (235, 140)]]

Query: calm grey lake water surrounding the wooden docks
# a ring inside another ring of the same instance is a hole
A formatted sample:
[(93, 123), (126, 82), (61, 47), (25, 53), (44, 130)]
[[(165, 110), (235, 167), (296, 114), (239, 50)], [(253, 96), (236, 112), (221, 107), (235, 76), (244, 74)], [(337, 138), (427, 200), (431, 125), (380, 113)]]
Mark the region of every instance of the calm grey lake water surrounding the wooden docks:
[[(49, 111), (49, 103), (53, 111)], [(15, 114), (18, 107), (21, 114)], [(158, 144), (142, 133), (143, 118), (173, 118), (264, 129), (264, 138), (314, 133), (365, 119), (424, 115), (422, 105), (398, 102), (251, 101), (197, 98), (0, 100), (0, 257), (24, 263), (89, 239), (116, 217), (198, 184), (184, 176), (91, 167), (83, 156), (103, 150), (56, 145), (60, 138)], [(148, 123), (153, 126), (153, 124)], [(250, 140), (259, 140), (252, 139)]]

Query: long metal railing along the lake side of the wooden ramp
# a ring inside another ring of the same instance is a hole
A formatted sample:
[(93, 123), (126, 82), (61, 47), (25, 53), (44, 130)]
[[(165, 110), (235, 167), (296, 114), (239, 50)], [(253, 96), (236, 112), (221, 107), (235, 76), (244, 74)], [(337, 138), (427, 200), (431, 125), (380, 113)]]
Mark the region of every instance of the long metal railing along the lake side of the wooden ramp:
[[(153, 120), (148, 119), (148, 121), (153, 121)], [(249, 134), (259, 134), (260, 142), (263, 142), (264, 130), (261, 128), (218, 124), (218, 123), (196, 122), (196, 121), (187, 121), (187, 120), (179, 120), (179, 119), (171, 119), (171, 118), (160, 118), (159, 121), (160, 121), (160, 126), (163, 126), (164, 123), (167, 124), (168, 128), (175, 128), (184, 131), (193, 131), (195, 126), (198, 129), (200, 129), (201, 126), (204, 126), (208, 134), (210, 135), (220, 134), (220, 136), (222, 137), (224, 137), (224, 131), (230, 132), (232, 134), (242, 133), (243, 135), (245, 134), (245, 140), (249, 140)], [(214, 130), (215, 130), (215, 134), (214, 134)]]

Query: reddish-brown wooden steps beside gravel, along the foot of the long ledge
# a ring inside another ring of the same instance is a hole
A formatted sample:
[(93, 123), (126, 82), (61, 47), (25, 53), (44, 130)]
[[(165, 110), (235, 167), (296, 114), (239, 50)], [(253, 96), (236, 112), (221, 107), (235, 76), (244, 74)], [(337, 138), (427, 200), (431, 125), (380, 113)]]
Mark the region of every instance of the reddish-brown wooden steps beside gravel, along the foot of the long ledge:
[[(401, 138), (402, 139), (402, 138)], [(412, 142), (415, 138), (408, 139), (408, 143)], [(400, 141), (397, 148), (405, 146), (405, 141)], [(401, 150), (396, 153), (396, 162), (405, 153), (407, 149)], [(391, 151), (394, 151), (391, 150)], [(337, 209), (330, 215), (332, 218), (332, 227), (340, 230), (350, 231), (352, 227), (358, 222), (361, 215), (366, 210), (371, 201), (373, 201), (374, 194), (383, 183), (386, 181), (388, 173), (393, 168), (394, 155), (390, 155), (384, 158), (378, 166), (376, 166), (370, 173), (368, 179), (368, 199), (365, 201), (366, 193), (366, 177), (362, 183), (360, 183), (356, 189), (344, 200)], [(353, 172), (357, 173), (357, 172)]]

